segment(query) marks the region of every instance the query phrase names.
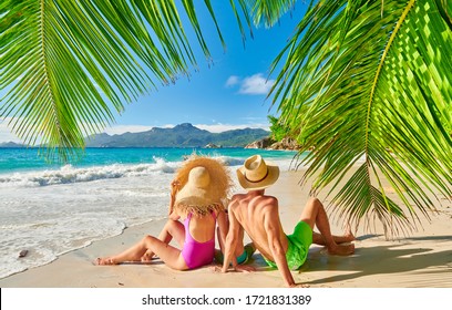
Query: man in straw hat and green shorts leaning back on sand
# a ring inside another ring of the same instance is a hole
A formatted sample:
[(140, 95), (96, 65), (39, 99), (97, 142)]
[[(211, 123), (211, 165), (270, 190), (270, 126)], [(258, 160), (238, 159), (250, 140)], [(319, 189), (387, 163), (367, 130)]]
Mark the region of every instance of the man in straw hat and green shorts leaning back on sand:
[[(245, 229), (255, 247), (271, 267), (281, 272), (287, 287), (296, 287), (290, 269), (298, 269), (305, 262), (310, 245), (327, 247), (331, 255), (351, 255), (355, 245), (339, 245), (355, 240), (350, 229), (343, 236), (332, 236), (328, 216), (320, 200), (310, 198), (305, 206), (300, 219), (291, 235), (286, 235), (279, 219), (278, 199), (265, 195), (265, 188), (273, 185), (279, 177), (279, 167), (266, 163), (261, 156), (255, 155), (246, 159), (237, 169), (237, 177), (247, 194), (233, 196), (229, 207), (229, 231), (226, 237), (223, 272), (227, 272), (229, 264), (239, 271), (249, 271), (249, 266), (237, 265), (234, 250), (240, 229)], [(320, 234), (314, 232), (314, 227)]]

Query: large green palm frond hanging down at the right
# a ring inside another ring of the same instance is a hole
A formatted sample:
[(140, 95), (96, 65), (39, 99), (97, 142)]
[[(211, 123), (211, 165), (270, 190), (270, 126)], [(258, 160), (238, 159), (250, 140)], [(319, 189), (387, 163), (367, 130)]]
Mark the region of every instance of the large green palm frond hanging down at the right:
[(314, 149), (300, 163), (314, 192), (360, 166), (332, 199), (345, 220), (397, 232), (417, 210), (429, 217), (430, 194), (452, 196), (451, 11), (450, 1), (319, 1), (274, 64), (287, 53), (275, 103), (301, 152)]

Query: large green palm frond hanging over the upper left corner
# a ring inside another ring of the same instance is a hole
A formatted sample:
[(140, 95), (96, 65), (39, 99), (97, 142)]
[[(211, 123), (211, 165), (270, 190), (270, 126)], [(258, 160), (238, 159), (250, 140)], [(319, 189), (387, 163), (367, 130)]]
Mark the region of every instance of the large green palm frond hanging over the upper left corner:
[[(204, 6), (212, 9), (207, 0)], [(181, 10), (209, 59), (195, 4), (179, 7), (167, 0), (2, 1), (0, 86), (8, 93), (0, 118), (9, 117), (24, 143), (42, 143), (49, 155), (76, 155), (85, 136), (114, 122), (113, 110), (196, 66)]]

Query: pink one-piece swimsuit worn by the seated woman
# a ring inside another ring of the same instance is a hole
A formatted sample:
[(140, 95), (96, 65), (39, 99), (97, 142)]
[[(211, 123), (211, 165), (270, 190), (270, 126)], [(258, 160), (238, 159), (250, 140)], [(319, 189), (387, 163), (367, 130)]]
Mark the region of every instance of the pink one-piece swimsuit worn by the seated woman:
[[(215, 214), (212, 216), (215, 218)], [(185, 226), (185, 242), (182, 249), (182, 257), (189, 269), (194, 269), (214, 260), (215, 255), (215, 235), (210, 240), (205, 242), (198, 242), (193, 239), (189, 235), (189, 220), (192, 219), (192, 214), (188, 214), (187, 218), (184, 220)]]

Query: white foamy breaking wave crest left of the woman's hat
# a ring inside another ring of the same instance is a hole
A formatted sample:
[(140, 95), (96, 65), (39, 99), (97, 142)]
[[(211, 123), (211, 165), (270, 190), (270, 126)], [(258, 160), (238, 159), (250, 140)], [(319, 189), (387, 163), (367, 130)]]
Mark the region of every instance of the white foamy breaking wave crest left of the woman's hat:
[(179, 163), (154, 158), (153, 164), (113, 164), (93, 167), (65, 165), (59, 169), (34, 170), (0, 175), (0, 187), (37, 187), (58, 184), (83, 183), (99, 179), (172, 174)]

